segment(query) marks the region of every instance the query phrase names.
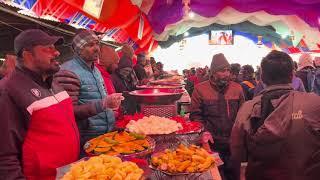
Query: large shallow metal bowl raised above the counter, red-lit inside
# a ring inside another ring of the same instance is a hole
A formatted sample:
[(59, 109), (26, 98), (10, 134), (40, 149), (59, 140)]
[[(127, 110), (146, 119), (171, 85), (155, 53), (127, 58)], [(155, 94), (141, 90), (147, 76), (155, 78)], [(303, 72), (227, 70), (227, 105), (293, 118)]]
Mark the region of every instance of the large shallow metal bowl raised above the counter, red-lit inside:
[(173, 104), (184, 93), (183, 89), (142, 89), (129, 92), (139, 104)]

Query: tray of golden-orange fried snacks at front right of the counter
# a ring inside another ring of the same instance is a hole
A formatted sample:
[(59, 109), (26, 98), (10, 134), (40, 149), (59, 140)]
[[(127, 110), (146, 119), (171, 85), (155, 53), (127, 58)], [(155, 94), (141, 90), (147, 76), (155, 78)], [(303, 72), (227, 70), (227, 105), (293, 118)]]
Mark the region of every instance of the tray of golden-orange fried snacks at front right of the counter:
[(214, 157), (205, 149), (183, 144), (176, 149), (153, 154), (150, 160), (150, 168), (172, 176), (203, 173), (215, 165)]

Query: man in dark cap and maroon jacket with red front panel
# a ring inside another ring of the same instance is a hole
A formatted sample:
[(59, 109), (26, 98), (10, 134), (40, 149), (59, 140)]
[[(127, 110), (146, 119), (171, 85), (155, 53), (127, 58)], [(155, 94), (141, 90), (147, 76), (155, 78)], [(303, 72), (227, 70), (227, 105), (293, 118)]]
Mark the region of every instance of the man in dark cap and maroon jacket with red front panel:
[(71, 98), (52, 81), (62, 42), (38, 29), (14, 40), (18, 65), (0, 82), (1, 179), (54, 179), (56, 168), (79, 157)]

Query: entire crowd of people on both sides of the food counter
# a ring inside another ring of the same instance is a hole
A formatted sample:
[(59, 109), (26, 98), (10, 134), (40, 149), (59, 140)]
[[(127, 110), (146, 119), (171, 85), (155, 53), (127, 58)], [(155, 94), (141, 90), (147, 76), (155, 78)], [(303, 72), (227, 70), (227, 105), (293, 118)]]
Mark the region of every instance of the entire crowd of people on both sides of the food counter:
[[(134, 64), (132, 47), (118, 53), (88, 30), (75, 35), (74, 57), (60, 65), (62, 43), (38, 29), (15, 38), (15, 55), (1, 69), (0, 178), (54, 179), (56, 168), (85, 156), (86, 141), (137, 111), (127, 92), (167, 75), (154, 58), (140, 53)], [(241, 162), (247, 180), (319, 177), (319, 66), (308, 54), (295, 65), (271, 51), (257, 72), (230, 65), (222, 53), (210, 67), (183, 71), (189, 118), (213, 137), (223, 179), (240, 179)]]

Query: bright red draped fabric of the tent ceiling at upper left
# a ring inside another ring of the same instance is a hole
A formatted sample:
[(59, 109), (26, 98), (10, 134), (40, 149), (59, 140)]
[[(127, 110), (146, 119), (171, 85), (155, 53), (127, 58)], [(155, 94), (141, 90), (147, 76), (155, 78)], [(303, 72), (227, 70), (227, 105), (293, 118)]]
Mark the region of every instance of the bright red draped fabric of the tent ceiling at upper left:
[[(140, 12), (139, 8), (132, 5), (130, 0), (104, 0), (100, 16), (94, 17), (83, 9), (85, 0), (37, 0), (32, 10), (38, 15), (50, 15), (64, 22), (72, 19), (78, 12), (93, 19), (97, 23), (92, 29), (105, 32), (107, 29), (121, 28), (127, 35), (135, 41), (138, 51), (153, 50), (157, 47), (157, 42), (153, 42), (152, 28), (146, 16)], [(144, 20), (142, 39), (138, 38), (140, 15)], [(150, 48), (150, 45), (153, 46)]]

